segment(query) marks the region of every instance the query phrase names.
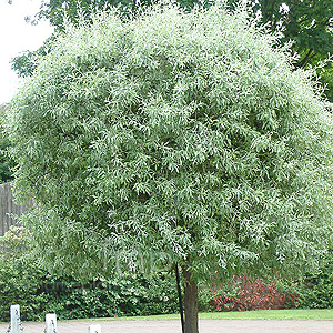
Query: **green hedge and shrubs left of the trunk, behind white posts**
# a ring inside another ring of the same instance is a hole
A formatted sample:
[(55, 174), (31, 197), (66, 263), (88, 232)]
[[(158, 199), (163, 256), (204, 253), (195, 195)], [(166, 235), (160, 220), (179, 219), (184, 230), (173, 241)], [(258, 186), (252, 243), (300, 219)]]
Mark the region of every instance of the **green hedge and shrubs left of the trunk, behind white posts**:
[[(53, 275), (39, 268), (21, 248), (27, 234), (12, 226), (6, 234), (10, 252), (0, 252), (0, 321), (9, 307), (20, 304), (22, 320), (105, 317), (173, 313), (178, 310), (175, 278), (170, 273), (149, 279), (124, 273), (82, 283), (72, 276)], [(1, 243), (0, 243), (1, 245)]]

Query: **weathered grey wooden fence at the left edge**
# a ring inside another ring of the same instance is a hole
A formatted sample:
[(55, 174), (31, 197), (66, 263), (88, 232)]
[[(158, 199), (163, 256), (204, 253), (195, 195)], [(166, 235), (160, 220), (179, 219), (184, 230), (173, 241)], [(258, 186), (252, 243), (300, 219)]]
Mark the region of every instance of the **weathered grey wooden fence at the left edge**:
[(17, 205), (13, 202), (11, 188), (12, 183), (0, 184), (0, 236), (17, 223), (12, 214), (20, 216), (27, 211), (24, 205)]

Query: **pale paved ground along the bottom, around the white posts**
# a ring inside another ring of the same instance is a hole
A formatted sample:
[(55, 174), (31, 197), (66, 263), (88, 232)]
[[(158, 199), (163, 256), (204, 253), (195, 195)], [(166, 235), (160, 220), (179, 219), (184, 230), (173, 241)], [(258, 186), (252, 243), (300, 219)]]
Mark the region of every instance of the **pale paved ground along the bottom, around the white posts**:
[[(181, 333), (179, 321), (61, 321), (59, 333), (87, 333), (101, 324), (102, 333)], [(0, 333), (8, 325), (0, 324)], [(26, 333), (43, 333), (44, 323), (23, 323)], [(201, 320), (200, 333), (332, 333), (333, 321)]]

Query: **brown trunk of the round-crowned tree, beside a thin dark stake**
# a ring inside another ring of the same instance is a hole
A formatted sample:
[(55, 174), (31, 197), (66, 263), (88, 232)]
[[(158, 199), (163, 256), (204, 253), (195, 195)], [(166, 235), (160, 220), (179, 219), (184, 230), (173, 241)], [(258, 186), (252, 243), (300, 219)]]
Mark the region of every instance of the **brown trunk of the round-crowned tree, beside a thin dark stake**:
[(199, 333), (198, 330), (198, 285), (191, 279), (191, 270), (183, 268), (185, 333)]

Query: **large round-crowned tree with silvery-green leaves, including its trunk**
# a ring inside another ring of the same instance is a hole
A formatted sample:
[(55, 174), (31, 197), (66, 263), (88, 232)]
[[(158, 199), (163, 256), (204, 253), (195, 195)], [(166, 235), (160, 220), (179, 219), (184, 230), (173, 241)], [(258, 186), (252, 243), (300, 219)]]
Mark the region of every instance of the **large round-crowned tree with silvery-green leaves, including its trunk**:
[(87, 278), (181, 266), (198, 284), (297, 276), (332, 241), (333, 119), (314, 72), (224, 3), (68, 24), (7, 131), (34, 251)]

